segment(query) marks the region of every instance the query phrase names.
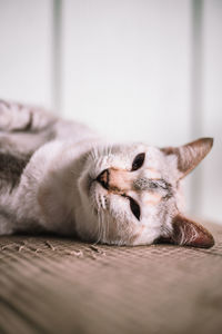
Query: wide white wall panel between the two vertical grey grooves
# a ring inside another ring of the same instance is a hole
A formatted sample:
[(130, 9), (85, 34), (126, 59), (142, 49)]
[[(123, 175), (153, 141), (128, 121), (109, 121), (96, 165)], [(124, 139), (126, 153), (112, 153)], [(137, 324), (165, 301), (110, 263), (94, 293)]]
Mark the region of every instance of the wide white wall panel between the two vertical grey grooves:
[(188, 139), (190, 1), (68, 0), (63, 22), (65, 116), (121, 140)]

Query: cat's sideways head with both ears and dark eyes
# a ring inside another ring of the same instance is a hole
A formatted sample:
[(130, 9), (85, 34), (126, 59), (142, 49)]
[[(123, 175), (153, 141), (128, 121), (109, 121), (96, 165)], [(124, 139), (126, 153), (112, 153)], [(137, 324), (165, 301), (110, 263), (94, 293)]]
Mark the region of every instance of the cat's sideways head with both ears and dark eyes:
[(212, 145), (202, 138), (176, 148), (134, 144), (91, 150), (79, 179), (87, 216), (79, 234), (117, 245), (163, 239), (211, 247), (212, 235), (181, 214), (180, 183)]

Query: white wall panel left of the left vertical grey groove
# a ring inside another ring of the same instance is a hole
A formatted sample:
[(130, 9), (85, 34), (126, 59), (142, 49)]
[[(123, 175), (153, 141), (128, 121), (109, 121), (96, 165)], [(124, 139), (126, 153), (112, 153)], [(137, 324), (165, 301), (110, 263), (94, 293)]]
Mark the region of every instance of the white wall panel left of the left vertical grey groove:
[(0, 96), (51, 106), (49, 0), (0, 0)]

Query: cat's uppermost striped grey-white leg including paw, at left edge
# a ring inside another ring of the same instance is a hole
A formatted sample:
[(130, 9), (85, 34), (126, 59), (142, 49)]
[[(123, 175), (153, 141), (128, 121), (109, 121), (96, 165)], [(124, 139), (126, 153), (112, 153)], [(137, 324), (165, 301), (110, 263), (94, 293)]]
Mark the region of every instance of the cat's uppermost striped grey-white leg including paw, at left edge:
[(37, 107), (0, 100), (0, 130), (29, 131), (44, 130), (57, 121), (57, 117)]

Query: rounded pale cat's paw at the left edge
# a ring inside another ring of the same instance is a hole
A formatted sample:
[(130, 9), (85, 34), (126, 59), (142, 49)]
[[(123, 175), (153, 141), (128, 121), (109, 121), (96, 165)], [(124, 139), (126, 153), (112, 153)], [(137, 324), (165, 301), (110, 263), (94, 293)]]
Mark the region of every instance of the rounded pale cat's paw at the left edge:
[(0, 130), (24, 130), (30, 124), (29, 109), (22, 105), (0, 100)]

